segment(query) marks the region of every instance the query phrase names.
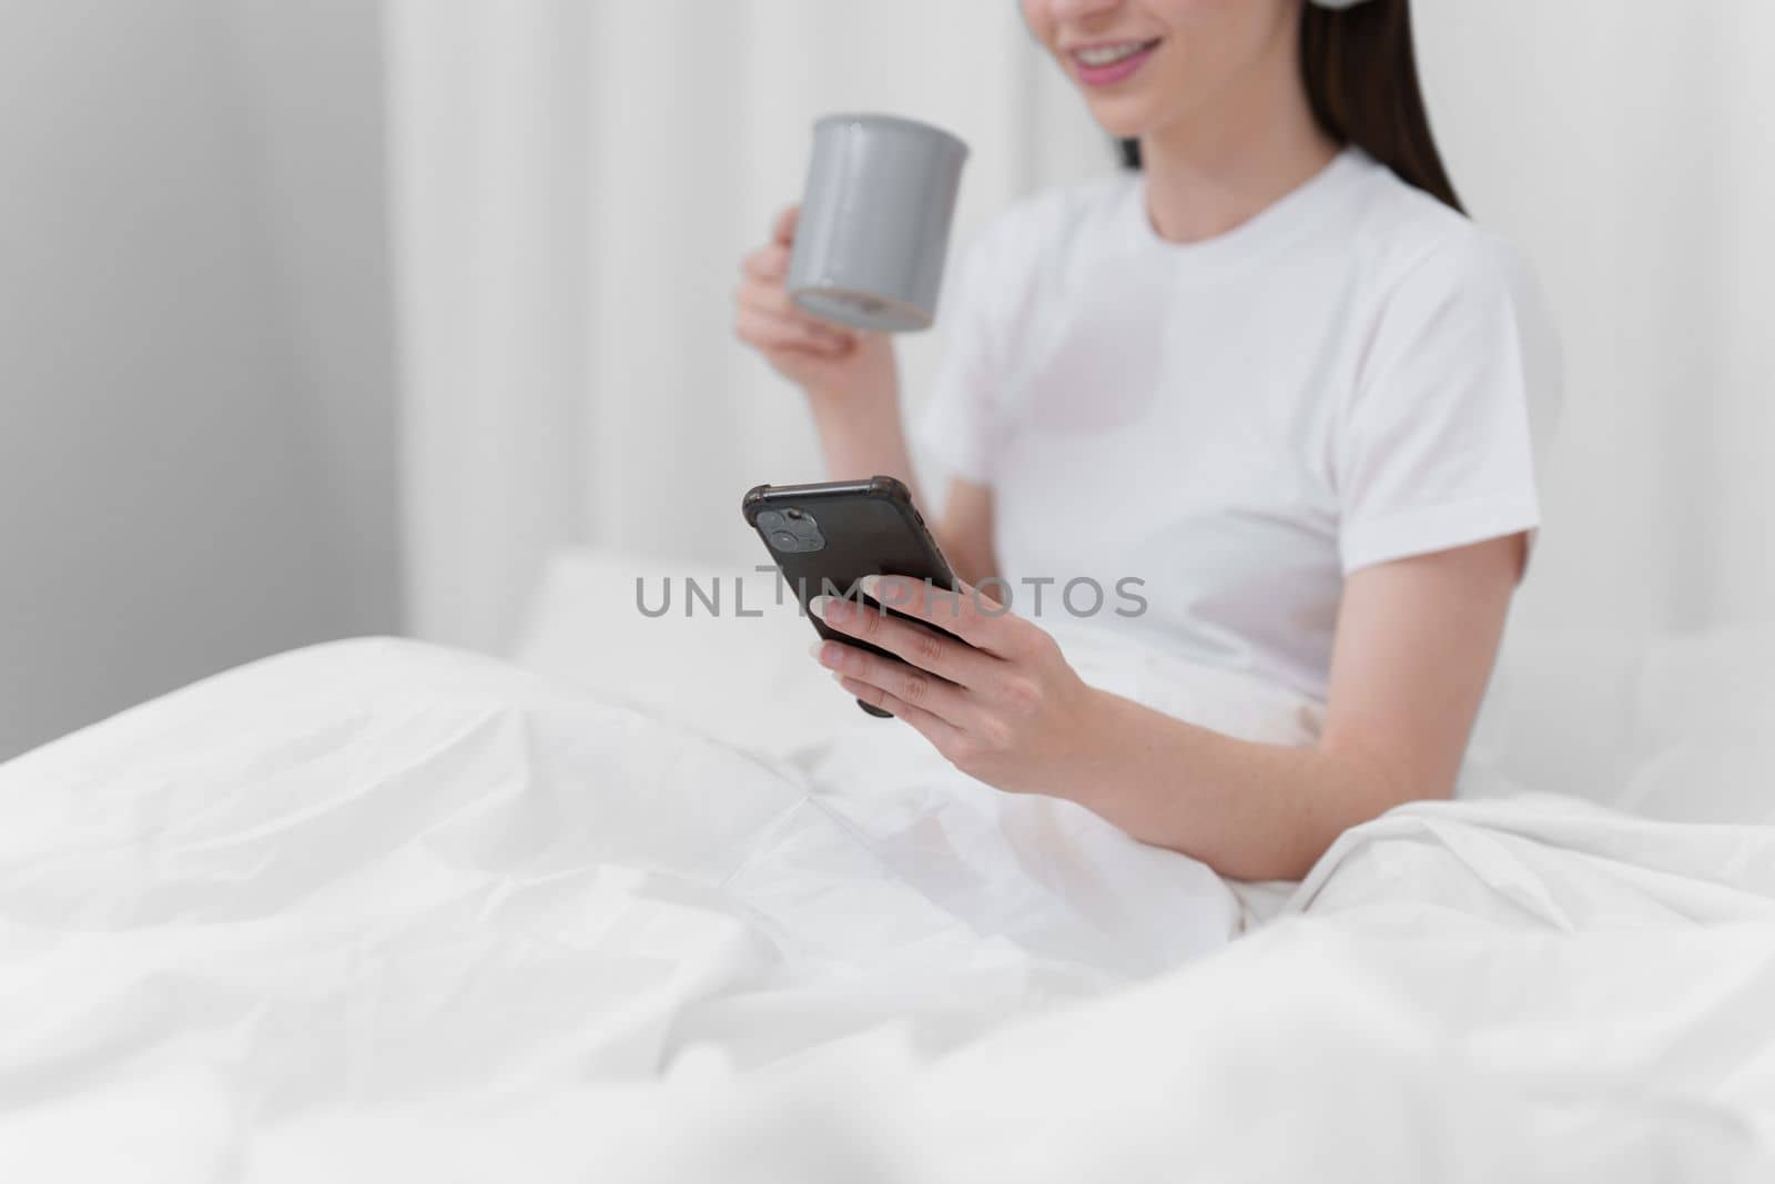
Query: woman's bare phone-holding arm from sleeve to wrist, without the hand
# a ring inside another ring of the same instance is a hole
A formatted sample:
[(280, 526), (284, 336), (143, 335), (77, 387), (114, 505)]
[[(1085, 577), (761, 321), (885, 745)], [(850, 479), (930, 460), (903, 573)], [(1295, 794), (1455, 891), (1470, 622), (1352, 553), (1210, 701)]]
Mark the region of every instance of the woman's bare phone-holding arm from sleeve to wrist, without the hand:
[(1400, 802), (1448, 797), (1521, 554), (1516, 536), (1351, 575), (1326, 728), (1310, 749), (1104, 705), (1106, 749), (1120, 742), (1127, 760), (1079, 801), (1136, 838), (1262, 880), (1303, 877), (1331, 840)]

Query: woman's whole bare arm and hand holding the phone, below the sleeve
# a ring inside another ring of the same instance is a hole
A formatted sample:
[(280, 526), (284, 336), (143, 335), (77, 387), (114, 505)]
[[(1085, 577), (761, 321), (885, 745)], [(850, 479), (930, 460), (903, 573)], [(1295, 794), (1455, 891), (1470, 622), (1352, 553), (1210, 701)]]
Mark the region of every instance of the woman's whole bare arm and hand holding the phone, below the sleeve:
[(1351, 575), (1314, 747), (1235, 740), (1088, 687), (1045, 632), (973, 596), (879, 593), (974, 650), (832, 602), (827, 623), (916, 669), (840, 643), (820, 662), (989, 785), (1070, 797), (1223, 875), (1299, 879), (1347, 827), (1452, 792), (1523, 556), (1518, 534)]

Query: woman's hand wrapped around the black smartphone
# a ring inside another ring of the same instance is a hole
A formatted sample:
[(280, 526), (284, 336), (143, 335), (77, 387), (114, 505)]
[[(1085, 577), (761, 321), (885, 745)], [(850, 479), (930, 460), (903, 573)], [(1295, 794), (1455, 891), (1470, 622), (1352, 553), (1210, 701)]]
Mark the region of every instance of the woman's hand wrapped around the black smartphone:
[(957, 769), (999, 790), (1054, 793), (1067, 779), (1088, 776), (1104, 696), (1079, 678), (1044, 628), (966, 584), (944, 593), (925, 580), (882, 575), (861, 588), (953, 639), (870, 605), (818, 598), (827, 627), (903, 659), (818, 643), (816, 660), (845, 691), (905, 721)]

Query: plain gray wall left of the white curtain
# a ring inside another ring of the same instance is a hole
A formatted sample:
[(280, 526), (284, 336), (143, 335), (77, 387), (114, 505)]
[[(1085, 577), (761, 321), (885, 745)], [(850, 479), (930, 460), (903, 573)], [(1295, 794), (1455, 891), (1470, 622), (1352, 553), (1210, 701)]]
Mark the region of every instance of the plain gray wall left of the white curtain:
[(0, 0), (0, 758), (396, 627), (376, 9)]

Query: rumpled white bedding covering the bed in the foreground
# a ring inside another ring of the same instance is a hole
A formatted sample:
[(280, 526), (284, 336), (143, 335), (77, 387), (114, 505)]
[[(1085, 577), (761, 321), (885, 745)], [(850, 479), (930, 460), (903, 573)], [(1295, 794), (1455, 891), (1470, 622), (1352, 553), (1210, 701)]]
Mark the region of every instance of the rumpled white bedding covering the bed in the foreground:
[(1768, 829), (1415, 806), (1228, 946), (831, 735), (346, 643), (0, 767), (0, 1179), (1775, 1179)]

